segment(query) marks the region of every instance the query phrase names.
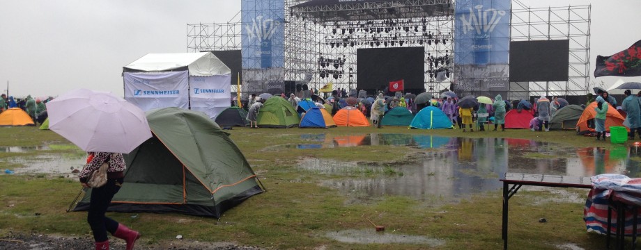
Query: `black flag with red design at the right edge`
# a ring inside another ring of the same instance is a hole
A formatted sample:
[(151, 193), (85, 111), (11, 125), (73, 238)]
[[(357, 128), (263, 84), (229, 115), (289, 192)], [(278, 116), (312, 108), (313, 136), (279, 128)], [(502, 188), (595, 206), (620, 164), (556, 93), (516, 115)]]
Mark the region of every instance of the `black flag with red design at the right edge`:
[(596, 56), (594, 77), (641, 76), (641, 40), (612, 56)]

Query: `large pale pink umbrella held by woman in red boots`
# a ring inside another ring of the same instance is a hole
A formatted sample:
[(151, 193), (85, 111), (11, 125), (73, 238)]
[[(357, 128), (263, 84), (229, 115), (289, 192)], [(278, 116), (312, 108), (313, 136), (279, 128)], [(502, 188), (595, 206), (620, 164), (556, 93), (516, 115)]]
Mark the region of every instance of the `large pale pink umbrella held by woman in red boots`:
[(47, 112), (49, 129), (84, 151), (130, 153), (151, 138), (144, 111), (111, 93), (72, 90)]

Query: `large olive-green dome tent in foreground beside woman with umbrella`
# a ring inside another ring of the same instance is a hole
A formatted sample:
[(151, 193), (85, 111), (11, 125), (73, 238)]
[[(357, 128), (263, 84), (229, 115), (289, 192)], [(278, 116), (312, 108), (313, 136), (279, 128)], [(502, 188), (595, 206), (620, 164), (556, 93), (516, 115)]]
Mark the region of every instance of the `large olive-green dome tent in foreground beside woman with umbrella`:
[[(162, 108), (147, 120), (153, 138), (125, 155), (125, 183), (108, 211), (220, 217), (263, 192), (245, 156), (205, 113)], [(87, 191), (75, 211), (88, 210)]]

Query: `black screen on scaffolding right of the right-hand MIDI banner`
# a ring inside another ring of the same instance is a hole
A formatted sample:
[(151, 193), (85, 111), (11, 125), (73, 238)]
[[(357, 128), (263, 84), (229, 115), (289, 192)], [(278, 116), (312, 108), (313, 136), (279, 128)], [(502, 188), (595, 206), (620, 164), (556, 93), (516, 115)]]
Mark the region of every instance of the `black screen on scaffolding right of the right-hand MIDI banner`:
[(569, 40), (510, 42), (509, 81), (568, 81)]

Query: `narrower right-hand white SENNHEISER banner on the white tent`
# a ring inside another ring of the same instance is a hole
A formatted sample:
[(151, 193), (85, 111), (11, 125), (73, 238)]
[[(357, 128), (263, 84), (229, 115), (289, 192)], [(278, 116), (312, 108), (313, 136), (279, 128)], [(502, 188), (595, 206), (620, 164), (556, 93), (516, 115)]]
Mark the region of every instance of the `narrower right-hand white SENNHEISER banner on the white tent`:
[(215, 119), (231, 106), (231, 75), (190, 76), (190, 106)]

